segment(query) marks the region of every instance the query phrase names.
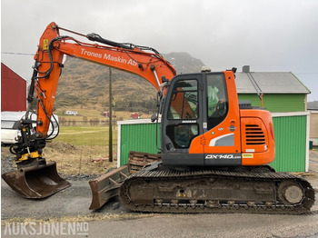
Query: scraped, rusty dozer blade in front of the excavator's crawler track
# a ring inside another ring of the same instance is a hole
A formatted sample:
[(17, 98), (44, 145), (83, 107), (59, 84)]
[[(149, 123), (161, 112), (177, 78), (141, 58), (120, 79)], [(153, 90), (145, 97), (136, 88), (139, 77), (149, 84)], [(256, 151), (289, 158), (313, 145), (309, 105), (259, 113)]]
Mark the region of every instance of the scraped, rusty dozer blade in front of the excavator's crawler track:
[(89, 182), (92, 190), (90, 210), (101, 208), (109, 199), (119, 194), (119, 188), (129, 176), (128, 166), (124, 165)]

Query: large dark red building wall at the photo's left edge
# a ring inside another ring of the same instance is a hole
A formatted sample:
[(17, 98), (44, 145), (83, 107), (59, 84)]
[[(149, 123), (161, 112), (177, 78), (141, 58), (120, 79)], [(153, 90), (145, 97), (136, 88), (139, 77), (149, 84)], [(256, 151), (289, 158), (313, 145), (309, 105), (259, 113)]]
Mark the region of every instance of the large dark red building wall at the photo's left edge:
[(26, 81), (1, 63), (1, 112), (26, 110)]

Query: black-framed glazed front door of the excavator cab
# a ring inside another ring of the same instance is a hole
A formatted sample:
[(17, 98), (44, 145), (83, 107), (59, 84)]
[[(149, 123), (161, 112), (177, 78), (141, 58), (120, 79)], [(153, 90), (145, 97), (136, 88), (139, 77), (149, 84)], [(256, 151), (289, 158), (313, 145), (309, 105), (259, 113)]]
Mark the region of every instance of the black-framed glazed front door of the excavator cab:
[(189, 149), (204, 133), (202, 74), (180, 74), (172, 80), (162, 115), (162, 160), (164, 164), (203, 165), (204, 145)]

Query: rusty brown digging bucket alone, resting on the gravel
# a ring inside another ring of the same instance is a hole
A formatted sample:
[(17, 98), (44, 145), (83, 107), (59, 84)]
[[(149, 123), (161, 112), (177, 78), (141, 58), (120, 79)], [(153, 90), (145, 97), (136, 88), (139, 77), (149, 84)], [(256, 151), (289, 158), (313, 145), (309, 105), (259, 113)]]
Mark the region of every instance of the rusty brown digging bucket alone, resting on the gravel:
[(57, 174), (55, 162), (20, 168), (2, 174), (2, 178), (25, 198), (42, 199), (71, 185)]

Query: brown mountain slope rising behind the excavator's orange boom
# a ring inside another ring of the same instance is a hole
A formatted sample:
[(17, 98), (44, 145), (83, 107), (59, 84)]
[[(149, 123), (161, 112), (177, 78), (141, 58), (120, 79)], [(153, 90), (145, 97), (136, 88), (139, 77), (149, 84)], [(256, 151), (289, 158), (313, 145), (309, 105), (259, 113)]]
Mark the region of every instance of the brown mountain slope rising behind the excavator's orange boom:
[[(187, 53), (170, 53), (164, 58), (177, 74), (200, 72), (204, 63)], [(144, 78), (112, 70), (116, 111), (154, 113), (156, 89)], [(109, 68), (74, 57), (67, 57), (57, 87), (55, 108), (94, 108), (107, 110), (109, 104)]]

